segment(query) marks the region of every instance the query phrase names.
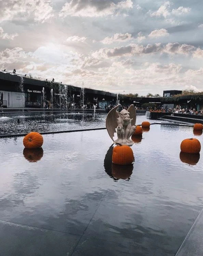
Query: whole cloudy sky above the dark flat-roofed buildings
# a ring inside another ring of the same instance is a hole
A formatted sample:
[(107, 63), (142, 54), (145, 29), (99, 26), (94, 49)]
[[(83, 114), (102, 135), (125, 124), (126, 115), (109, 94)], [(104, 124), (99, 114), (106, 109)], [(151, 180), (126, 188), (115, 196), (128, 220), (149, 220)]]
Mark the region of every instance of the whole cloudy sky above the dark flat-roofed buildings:
[(202, 0), (0, 0), (0, 69), (114, 93), (203, 91)]

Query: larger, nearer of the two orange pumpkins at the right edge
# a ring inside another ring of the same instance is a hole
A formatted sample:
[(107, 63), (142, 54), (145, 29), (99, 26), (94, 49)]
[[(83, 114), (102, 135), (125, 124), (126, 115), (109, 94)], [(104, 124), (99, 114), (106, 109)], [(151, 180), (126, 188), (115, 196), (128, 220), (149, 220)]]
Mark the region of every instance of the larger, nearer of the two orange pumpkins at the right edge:
[(200, 153), (201, 144), (198, 139), (185, 139), (180, 144), (180, 150), (185, 153), (197, 154)]

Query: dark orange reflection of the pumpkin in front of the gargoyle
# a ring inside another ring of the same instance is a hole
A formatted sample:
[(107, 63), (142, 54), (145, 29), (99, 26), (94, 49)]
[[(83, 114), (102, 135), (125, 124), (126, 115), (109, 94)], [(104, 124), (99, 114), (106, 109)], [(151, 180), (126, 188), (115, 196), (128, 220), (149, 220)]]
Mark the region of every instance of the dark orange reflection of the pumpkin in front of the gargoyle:
[(112, 175), (117, 179), (127, 179), (133, 173), (133, 164), (119, 165), (112, 163)]

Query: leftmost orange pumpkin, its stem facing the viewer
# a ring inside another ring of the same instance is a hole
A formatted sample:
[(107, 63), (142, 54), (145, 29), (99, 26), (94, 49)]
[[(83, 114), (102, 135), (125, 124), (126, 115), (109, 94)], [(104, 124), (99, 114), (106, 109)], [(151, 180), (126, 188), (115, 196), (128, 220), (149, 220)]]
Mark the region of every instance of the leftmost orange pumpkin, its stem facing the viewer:
[(23, 145), (28, 149), (40, 148), (43, 144), (43, 137), (39, 132), (31, 131), (23, 139)]

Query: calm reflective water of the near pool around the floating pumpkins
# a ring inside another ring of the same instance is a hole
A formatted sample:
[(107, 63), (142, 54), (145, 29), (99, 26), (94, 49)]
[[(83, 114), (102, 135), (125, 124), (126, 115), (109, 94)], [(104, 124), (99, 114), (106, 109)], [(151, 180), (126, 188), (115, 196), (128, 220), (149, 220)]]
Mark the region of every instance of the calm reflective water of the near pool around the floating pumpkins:
[(151, 125), (125, 170), (111, 165), (106, 130), (43, 137), (33, 154), (22, 137), (0, 139), (0, 254), (177, 252), (203, 203), (202, 152), (194, 165), (180, 156), (183, 139), (202, 142), (192, 127)]

